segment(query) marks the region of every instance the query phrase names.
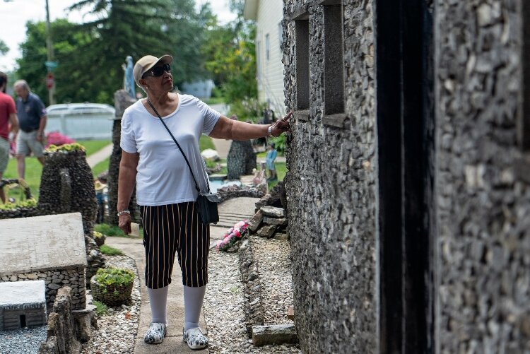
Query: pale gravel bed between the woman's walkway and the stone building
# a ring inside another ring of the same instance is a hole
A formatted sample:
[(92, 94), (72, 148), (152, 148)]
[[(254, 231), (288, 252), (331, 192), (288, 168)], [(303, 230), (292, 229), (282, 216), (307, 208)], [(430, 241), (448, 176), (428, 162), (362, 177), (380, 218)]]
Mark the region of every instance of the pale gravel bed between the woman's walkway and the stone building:
[[(292, 303), (289, 246), (287, 242), (252, 237), (254, 257), (262, 286), (266, 324), (292, 323), (285, 308)], [(254, 249), (254, 247), (258, 247)], [(258, 251), (257, 251), (258, 250)], [(257, 256), (257, 253), (259, 257)], [(245, 331), (243, 285), (237, 253), (212, 249), (208, 261), (208, 288), (204, 298), (204, 317), (208, 328), (209, 352), (232, 353), (302, 353), (297, 346), (254, 347)], [(265, 274), (269, 272), (269, 274)], [(264, 278), (261, 278), (264, 276)], [(274, 283), (267, 283), (273, 281)], [(278, 313), (279, 312), (279, 313)]]

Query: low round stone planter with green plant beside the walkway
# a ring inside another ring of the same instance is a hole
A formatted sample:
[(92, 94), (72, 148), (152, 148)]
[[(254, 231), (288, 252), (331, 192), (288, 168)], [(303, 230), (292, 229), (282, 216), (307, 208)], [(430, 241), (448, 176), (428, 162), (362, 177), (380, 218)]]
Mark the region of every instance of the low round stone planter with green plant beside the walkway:
[(100, 268), (90, 278), (90, 290), (95, 300), (117, 306), (130, 300), (133, 283), (134, 273), (129, 269)]

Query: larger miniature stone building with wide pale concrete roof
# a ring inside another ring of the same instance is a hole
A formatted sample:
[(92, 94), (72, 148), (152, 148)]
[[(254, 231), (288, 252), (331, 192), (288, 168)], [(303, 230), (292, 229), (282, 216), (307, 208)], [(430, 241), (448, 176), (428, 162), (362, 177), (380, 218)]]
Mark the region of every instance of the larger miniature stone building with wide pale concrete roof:
[(48, 310), (57, 290), (69, 286), (73, 309), (86, 307), (80, 213), (0, 220), (0, 230), (0, 282), (45, 281)]

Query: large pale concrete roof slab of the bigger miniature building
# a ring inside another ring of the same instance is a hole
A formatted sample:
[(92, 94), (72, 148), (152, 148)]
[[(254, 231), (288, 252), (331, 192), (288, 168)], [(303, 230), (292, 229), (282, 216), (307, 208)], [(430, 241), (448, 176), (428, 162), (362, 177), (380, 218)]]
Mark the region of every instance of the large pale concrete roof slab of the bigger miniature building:
[(0, 276), (87, 266), (81, 213), (0, 220)]

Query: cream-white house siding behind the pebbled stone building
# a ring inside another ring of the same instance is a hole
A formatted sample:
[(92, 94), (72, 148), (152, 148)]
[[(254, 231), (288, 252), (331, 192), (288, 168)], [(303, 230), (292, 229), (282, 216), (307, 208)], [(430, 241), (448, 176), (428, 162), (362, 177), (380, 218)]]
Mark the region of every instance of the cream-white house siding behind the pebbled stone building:
[[(281, 0), (258, 1), (256, 50), (259, 102), (271, 102), (276, 117), (285, 114), (283, 95), (283, 52), (280, 48), (280, 29), (283, 18)], [(266, 57), (266, 35), (269, 34), (269, 59)]]

